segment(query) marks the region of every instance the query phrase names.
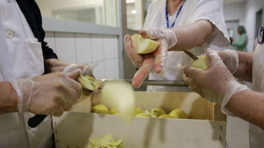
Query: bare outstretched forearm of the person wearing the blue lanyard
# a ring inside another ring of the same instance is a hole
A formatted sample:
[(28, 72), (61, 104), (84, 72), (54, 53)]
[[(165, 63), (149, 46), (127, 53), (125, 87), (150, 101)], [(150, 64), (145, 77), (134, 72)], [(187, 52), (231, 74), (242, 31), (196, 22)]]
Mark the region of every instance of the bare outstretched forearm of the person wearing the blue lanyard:
[(199, 20), (171, 30), (176, 34), (177, 44), (169, 51), (188, 50), (204, 44), (211, 36), (213, 25), (208, 20)]

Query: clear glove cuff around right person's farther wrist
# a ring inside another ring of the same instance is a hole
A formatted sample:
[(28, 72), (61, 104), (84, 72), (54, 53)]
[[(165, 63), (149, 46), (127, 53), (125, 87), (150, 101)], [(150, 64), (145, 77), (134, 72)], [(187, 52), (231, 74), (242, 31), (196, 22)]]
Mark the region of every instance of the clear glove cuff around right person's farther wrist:
[(217, 52), (220, 58), (223, 60), (223, 63), (226, 65), (227, 69), (234, 74), (238, 68), (238, 54), (234, 50), (224, 50)]

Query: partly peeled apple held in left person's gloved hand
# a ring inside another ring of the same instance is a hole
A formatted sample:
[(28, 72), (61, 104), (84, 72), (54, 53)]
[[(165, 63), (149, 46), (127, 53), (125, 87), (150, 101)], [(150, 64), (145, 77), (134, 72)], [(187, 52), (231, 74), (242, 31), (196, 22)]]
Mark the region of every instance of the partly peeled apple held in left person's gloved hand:
[(94, 77), (90, 77), (90, 76), (82, 76), (80, 74), (80, 76), (78, 77), (78, 82), (82, 85), (82, 88), (84, 89), (88, 89), (88, 90), (97, 90), (99, 89), (99, 87), (101, 86), (102, 82), (95, 79)]

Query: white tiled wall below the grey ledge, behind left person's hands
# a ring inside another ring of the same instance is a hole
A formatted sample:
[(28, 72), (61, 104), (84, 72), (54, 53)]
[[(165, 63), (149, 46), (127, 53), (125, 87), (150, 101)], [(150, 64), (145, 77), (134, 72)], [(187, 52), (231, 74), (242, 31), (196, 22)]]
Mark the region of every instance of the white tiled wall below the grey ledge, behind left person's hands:
[(98, 79), (119, 79), (118, 36), (46, 32), (45, 41), (58, 59), (68, 63), (97, 64)]

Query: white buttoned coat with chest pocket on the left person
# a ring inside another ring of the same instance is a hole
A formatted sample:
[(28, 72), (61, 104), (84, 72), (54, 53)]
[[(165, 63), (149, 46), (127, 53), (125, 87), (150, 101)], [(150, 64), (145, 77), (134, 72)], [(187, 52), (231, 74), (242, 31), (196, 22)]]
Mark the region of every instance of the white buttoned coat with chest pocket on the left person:
[[(0, 0), (0, 81), (31, 78), (44, 73), (41, 43), (20, 10), (16, 0)], [(51, 147), (50, 116), (36, 128), (28, 126), (34, 114), (0, 115), (0, 147)]]

